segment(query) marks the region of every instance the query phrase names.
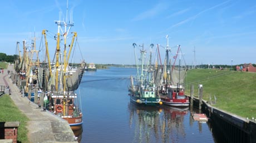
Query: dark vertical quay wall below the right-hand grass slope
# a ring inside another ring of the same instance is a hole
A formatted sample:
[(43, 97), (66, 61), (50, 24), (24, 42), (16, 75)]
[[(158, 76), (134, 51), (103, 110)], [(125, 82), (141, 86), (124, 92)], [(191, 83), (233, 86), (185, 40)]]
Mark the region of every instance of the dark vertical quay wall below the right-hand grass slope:
[[(190, 96), (189, 96), (190, 98)], [(193, 106), (199, 108), (199, 98), (193, 98)], [(201, 110), (213, 125), (217, 136), (225, 142), (256, 143), (256, 122), (215, 108), (203, 100)]]

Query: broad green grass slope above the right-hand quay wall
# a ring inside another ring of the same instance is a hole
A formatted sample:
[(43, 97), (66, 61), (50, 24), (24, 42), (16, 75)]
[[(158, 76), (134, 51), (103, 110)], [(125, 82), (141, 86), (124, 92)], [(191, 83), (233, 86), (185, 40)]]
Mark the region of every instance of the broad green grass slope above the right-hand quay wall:
[(203, 99), (214, 101), (219, 109), (242, 116), (256, 118), (256, 73), (213, 69), (188, 70), (185, 79), (186, 94), (194, 84), (194, 96), (198, 96), (198, 85), (203, 84)]

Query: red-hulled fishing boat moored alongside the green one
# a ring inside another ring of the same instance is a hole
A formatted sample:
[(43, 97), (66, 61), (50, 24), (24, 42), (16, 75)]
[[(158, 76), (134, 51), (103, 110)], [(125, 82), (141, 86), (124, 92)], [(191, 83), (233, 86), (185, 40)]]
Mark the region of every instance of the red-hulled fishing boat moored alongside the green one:
[[(168, 36), (167, 43), (168, 43)], [(169, 43), (166, 46), (166, 55), (165, 55), (165, 64), (164, 64), (164, 82), (159, 89), (159, 95), (161, 101), (164, 104), (170, 106), (189, 106), (189, 98), (185, 96), (185, 88), (183, 81), (186, 75), (187, 68), (186, 66), (181, 66), (181, 49), (178, 45), (178, 51), (174, 56), (174, 64), (171, 66), (169, 62)], [(175, 65), (176, 59), (179, 56), (179, 64)]]

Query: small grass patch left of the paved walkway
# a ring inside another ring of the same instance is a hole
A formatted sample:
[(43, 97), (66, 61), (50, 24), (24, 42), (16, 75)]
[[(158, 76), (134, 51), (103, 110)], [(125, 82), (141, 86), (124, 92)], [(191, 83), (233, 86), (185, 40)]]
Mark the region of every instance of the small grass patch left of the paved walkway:
[(28, 118), (17, 108), (9, 95), (0, 98), (0, 121), (19, 121), (18, 142), (28, 142), (26, 124)]

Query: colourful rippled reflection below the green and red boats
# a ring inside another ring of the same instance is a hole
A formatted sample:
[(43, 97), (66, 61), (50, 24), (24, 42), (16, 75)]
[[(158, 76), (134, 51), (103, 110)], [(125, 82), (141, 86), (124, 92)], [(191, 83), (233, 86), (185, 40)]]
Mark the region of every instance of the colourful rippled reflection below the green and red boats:
[(188, 107), (145, 107), (132, 103), (128, 106), (130, 128), (135, 130), (133, 142), (177, 142), (185, 138), (183, 120)]

